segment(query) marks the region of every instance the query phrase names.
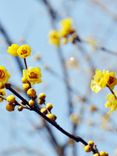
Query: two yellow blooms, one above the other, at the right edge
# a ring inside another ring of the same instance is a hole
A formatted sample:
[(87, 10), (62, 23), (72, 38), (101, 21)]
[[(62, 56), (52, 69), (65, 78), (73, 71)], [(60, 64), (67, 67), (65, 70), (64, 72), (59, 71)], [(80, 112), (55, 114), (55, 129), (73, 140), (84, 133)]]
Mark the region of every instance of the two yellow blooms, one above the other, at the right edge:
[(105, 87), (108, 87), (111, 91), (111, 94), (107, 95), (107, 102), (105, 103), (105, 107), (109, 108), (110, 112), (117, 110), (117, 92), (113, 91), (116, 85), (116, 73), (107, 70), (101, 71), (97, 69), (91, 80), (91, 89), (93, 92), (98, 93)]

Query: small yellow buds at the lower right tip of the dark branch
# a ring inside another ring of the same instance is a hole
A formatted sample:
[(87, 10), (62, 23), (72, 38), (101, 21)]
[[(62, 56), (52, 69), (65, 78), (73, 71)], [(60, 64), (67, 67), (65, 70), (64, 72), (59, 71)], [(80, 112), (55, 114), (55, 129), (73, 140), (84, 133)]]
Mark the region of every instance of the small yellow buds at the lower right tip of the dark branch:
[[(96, 145), (93, 140), (89, 140), (88, 144), (86, 146), (84, 146), (85, 152), (91, 152), (94, 149), (96, 149)], [(104, 151), (98, 152), (98, 150), (97, 150), (97, 152), (93, 156), (109, 156), (109, 155), (107, 152), (104, 152)]]

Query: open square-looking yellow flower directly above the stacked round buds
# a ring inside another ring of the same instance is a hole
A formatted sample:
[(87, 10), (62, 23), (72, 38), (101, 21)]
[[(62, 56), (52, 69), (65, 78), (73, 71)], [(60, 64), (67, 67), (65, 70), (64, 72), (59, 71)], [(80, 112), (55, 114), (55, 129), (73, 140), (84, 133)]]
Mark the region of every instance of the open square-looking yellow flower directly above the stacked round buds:
[(23, 70), (23, 78), (29, 81), (31, 84), (42, 82), (41, 69), (39, 67), (28, 68)]

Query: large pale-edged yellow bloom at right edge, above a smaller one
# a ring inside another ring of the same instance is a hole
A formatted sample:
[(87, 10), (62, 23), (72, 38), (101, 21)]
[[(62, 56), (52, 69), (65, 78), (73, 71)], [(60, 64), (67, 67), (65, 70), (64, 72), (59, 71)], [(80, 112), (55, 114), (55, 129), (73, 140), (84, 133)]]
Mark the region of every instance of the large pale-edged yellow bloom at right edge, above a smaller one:
[(109, 72), (107, 70), (96, 70), (93, 80), (91, 80), (91, 89), (93, 92), (98, 93), (106, 86), (114, 88), (117, 84), (115, 72)]

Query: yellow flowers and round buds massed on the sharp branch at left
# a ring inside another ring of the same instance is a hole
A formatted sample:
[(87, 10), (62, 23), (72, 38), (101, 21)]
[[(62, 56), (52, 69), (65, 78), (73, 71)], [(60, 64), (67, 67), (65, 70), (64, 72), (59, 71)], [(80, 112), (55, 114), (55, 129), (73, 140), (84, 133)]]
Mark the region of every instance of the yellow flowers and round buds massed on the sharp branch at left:
[[(20, 58), (25, 59), (26, 57), (30, 56), (31, 47), (26, 44), (21, 46), (19, 46), (18, 44), (12, 44), (8, 47), (7, 51), (13, 56), (19, 56)], [(10, 85), (9, 83), (7, 83), (10, 78), (10, 74), (5, 67), (0, 66), (0, 102), (6, 100), (6, 110), (12, 112), (15, 110), (16, 106), (18, 106), (18, 111), (22, 111), (24, 108), (31, 110), (37, 105), (37, 100), (40, 112), (52, 122), (55, 122), (57, 117), (51, 113), (53, 105), (51, 103), (46, 103), (46, 94), (40, 93), (37, 99), (36, 90), (32, 88), (33, 84), (38, 84), (42, 82), (41, 69), (39, 67), (28, 67), (26, 59), (24, 60), (24, 63), (26, 69), (23, 70), (22, 88), (26, 92), (30, 100), (25, 101), (27, 104), (24, 104), (23, 101), (19, 103), (14, 95), (9, 95), (5, 97), (6, 93), (4, 91), (4, 88), (8, 88)]]

